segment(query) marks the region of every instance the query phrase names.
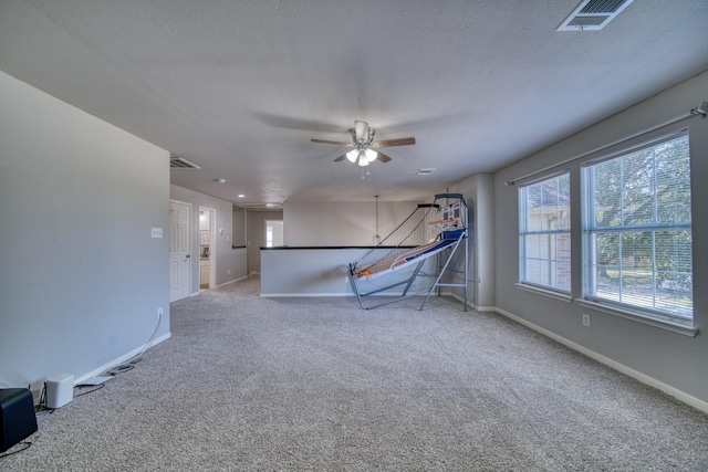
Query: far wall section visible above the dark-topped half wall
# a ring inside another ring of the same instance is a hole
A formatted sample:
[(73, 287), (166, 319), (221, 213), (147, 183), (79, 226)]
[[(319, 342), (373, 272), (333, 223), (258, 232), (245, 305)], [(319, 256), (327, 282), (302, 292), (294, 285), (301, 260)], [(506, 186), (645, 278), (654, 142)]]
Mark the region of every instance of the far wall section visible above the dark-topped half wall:
[[(431, 203), (433, 198), (427, 203)], [(378, 234), (382, 239), (426, 202), (379, 201)], [(372, 245), (376, 234), (376, 202), (285, 202), (285, 245)]]

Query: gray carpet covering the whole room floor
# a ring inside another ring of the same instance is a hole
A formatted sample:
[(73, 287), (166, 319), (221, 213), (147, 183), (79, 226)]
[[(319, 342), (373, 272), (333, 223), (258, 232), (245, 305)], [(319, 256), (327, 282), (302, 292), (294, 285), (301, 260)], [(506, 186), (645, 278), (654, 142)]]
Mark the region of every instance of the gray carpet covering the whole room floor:
[(499, 315), (258, 291), (173, 304), (0, 470), (708, 470), (707, 415)]

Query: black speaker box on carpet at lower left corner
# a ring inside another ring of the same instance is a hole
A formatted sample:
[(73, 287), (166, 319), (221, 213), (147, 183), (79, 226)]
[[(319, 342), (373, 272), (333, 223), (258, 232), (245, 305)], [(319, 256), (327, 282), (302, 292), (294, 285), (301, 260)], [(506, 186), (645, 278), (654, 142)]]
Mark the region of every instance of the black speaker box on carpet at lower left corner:
[(37, 431), (34, 401), (27, 388), (0, 389), (0, 452)]

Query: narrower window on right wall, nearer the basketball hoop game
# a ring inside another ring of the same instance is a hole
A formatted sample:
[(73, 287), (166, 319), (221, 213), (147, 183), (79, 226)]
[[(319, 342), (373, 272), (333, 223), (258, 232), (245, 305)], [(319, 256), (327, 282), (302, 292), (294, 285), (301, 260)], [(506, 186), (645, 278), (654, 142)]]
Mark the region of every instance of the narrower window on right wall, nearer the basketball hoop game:
[(571, 290), (570, 174), (519, 189), (519, 279)]

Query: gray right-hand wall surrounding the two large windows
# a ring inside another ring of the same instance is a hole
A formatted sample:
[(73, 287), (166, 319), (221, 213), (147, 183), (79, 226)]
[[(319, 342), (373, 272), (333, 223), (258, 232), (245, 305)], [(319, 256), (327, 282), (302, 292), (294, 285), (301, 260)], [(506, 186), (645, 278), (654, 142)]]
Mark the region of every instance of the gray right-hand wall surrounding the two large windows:
[[(593, 355), (618, 363), (618, 366), (633, 375), (647, 376), (646, 379), (652, 379), (660, 388), (668, 386), (668, 390), (677, 389), (681, 395), (686, 394), (690, 401), (691, 398), (698, 399), (704, 402), (702, 407), (708, 406), (708, 337), (705, 333), (691, 338), (606, 313), (589, 311), (581, 307), (576, 300), (566, 303), (524, 292), (514, 285), (519, 279), (518, 187), (506, 186), (504, 181), (666, 123), (708, 99), (707, 93), (708, 73), (704, 73), (494, 176), (497, 307), (587, 349)], [(689, 128), (694, 212), (694, 316), (695, 325), (704, 332), (708, 329), (708, 292), (704, 290), (708, 286), (708, 218), (705, 210), (705, 202), (708, 201), (708, 119), (690, 118), (674, 128), (677, 127)], [(565, 164), (561, 168), (570, 170), (571, 188), (577, 188), (580, 161)], [(580, 261), (580, 203), (575, 201), (572, 208), (572, 254), (575, 261)], [(577, 262), (572, 275), (573, 296), (580, 297), (581, 268)], [(591, 328), (582, 326), (582, 313), (591, 314)]]

